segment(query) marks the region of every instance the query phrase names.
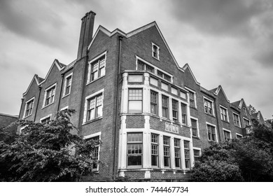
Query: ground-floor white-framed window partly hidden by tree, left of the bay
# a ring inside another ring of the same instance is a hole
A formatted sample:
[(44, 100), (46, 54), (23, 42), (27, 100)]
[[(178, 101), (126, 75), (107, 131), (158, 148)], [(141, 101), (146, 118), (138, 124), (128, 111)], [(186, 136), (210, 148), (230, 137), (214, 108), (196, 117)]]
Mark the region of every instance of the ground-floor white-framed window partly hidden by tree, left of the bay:
[[(100, 139), (101, 139), (101, 134), (102, 132), (97, 132), (95, 134), (90, 134), (87, 135), (85, 137), (83, 137), (83, 139), (85, 141), (90, 141), (93, 140), (94, 141), (94, 151), (90, 152), (90, 156), (93, 160), (99, 160), (99, 151), (100, 151)], [(94, 163), (92, 165), (92, 171), (99, 171), (99, 165), (97, 165), (97, 163)]]

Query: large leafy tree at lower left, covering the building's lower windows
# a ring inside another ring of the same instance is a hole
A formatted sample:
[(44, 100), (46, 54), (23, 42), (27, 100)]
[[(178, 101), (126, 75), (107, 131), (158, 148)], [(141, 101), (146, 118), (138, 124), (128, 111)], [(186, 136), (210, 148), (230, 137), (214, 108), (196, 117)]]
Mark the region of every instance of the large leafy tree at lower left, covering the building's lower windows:
[[(80, 181), (92, 174), (99, 161), (92, 151), (101, 141), (85, 141), (70, 122), (75, 111), (57, 113), (48, 124), (19, 120), (25, 127), (22, 134), (10, 144), (0, 143), (1, 181)], [(72, 155), (71, 150), (76, 149)]]

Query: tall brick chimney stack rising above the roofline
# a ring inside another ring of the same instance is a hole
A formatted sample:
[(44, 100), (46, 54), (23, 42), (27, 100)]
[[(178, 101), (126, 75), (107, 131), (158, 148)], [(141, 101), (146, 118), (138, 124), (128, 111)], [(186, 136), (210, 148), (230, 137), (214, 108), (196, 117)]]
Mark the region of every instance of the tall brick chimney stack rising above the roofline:
[(85, 16), (81, 19), (77, 59), (87, 55), (87, 47), (92, 41), (93, 36), (94, 15), (96, 15), (96, 13), (90, 11), (89, 13), (86, 13)]

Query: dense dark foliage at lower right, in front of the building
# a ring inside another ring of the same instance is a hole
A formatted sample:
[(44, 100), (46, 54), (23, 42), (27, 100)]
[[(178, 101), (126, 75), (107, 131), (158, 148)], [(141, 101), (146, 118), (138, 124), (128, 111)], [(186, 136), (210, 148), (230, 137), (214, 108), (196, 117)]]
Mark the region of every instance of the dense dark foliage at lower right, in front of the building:
[(255, 124), (251, 134), (204, 150), (193, 181), (273, 181), (273, 130)]

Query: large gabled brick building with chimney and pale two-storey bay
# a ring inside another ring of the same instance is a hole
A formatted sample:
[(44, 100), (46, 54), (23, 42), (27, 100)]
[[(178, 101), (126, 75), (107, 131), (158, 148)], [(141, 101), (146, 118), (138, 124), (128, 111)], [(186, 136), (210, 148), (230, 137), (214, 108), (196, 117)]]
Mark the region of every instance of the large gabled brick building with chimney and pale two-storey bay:
[[(99, 138), (98, 176), (186, 181), (202, 149), (243, 137), (251, 125), (244, 99), (230, 102), (221, 85), (207, 90), (180, 66), (156, 22), (125, 33), (82, 18), (78, 55), (34, 75), (20, 119), (46, 122), (62, 109), (85, 139)], [(18, 131), (20, 128), (18, 129)]]

